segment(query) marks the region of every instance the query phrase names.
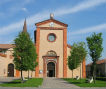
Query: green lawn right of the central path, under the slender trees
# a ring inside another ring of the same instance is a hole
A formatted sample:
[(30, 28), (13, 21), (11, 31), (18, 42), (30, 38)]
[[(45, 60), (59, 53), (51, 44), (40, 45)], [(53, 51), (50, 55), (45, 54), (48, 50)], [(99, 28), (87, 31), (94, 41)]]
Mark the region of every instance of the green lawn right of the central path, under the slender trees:
[(79, 87), (106, 87), (106, 81), (96, 80), (96, 84), (94, 83), (86, 83), (85, 79), (75, 80), (70, 78), (64, 78), (64, 80), (68, 81), (69, 83), (75, 84)]

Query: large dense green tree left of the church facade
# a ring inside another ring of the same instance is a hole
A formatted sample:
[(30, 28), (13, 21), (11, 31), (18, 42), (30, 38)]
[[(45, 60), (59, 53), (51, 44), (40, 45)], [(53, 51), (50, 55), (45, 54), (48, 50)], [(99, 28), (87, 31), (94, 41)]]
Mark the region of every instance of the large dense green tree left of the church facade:
[(13, 61), (15, 68), (21, 71), (21, 80), (23, 81), (23, 71), (30, 70), (31, 66), (36, 63), (36, 50), (27, 32), (19, 33), (14, 43)]

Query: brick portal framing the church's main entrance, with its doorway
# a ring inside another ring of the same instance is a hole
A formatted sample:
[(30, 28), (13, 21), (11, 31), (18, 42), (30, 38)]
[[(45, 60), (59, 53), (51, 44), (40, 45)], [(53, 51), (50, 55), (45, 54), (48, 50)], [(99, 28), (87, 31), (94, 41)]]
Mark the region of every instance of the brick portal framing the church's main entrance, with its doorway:
[(59, 56), (43, 56), (43, 77), (57, 77)]

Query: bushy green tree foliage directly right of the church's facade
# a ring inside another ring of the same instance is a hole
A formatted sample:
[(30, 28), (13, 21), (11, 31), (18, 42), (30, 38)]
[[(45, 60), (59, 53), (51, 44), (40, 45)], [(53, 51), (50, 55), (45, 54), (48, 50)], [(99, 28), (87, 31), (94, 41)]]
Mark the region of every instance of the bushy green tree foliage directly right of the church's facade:
[[(74, 43), (68, 56), (68, 67), (70, 70), (76, 69), (87, 55), (86, 46), (84, 42)], [(72, 74), (73, 77), (73, 74)]]

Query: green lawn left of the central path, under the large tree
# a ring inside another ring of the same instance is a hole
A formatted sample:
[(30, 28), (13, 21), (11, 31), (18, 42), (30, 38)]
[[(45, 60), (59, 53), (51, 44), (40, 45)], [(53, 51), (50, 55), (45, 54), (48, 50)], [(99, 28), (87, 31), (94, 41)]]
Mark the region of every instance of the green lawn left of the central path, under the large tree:
[(2, 87), (38, 87), (42, 84), (43, 79), (42, 78), (32, 78), (24, 83), (21, 83), (21, 80), (14, 80), (9, 83), (0, 84)]

